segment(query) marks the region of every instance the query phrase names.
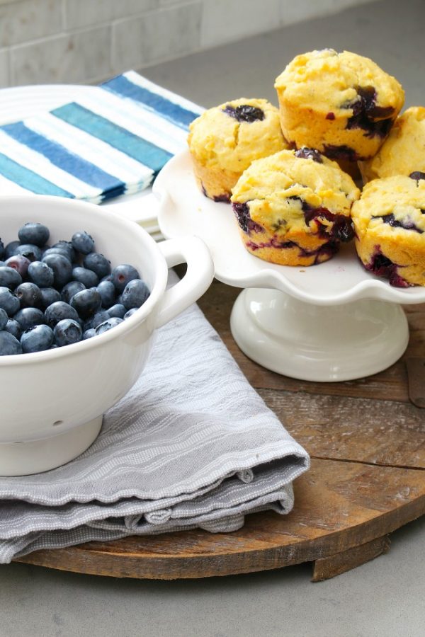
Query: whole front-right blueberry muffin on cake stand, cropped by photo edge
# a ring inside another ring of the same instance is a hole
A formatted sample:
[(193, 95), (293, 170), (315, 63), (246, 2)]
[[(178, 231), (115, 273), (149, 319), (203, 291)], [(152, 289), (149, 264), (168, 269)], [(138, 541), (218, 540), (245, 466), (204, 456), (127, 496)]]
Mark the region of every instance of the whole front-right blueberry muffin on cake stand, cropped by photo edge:
[(374, 179), (351, 211), (366, 270), (391, 285), (425, 285), (425, 180)]

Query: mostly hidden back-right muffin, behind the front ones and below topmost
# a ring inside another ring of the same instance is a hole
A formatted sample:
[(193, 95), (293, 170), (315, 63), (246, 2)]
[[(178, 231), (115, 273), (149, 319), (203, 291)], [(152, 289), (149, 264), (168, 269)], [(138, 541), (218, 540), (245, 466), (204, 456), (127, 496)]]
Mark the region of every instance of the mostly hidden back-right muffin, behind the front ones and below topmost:
[(364, 182), (412, 173), (425, 177), (425, 108), (412, 106), (397, 117), (378, 153), (359, 166)]

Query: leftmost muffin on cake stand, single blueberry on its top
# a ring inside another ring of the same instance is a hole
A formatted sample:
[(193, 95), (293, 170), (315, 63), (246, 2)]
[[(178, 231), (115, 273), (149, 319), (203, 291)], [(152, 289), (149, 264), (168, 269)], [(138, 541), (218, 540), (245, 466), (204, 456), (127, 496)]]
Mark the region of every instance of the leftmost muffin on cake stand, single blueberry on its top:
[(210, 199), (227, 202), (254, 159), (288, 148), (276, 106), (246, 98), (205, 110), (191, 123), (188, 145), (199, 188)]

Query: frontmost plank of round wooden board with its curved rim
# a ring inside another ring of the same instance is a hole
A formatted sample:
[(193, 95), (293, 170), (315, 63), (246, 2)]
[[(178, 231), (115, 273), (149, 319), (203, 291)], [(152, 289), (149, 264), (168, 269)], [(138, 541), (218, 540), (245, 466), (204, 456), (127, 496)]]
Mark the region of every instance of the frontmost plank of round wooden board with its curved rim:
[[(424, 472), (313, 460), (311, 470), (295, 481), (295, 503), (288, 516), (249, 515), (244, 527), (233, 533), (194, 530), (132, 536), (37, 551), (18, 561), (95, 575), (171, 580), (321, 560), (367, 544), (423, 515)], [(370, 551), (363, 555), (364, 561), (371, 557)], [(359, 556), (358, 563), (362, 563)], [(336, 566), (338, 570), (338, 560)], [(327, 573), (330, 576), (329, 565)]]

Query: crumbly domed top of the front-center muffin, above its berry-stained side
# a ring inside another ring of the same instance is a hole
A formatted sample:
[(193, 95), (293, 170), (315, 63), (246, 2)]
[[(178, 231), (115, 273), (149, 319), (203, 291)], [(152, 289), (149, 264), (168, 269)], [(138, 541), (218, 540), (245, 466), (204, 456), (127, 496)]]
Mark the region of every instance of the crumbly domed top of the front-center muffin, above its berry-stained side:
[(335, 214), (349, 217), (359, 195), (335, 161), (301, 148), (251, 163), (232, 189), (231, 201), (249, 202), (251, 219), (268, 231), (289, 232), (305, 231), (318, 217), (325, 225)]

